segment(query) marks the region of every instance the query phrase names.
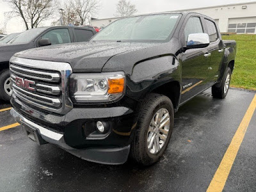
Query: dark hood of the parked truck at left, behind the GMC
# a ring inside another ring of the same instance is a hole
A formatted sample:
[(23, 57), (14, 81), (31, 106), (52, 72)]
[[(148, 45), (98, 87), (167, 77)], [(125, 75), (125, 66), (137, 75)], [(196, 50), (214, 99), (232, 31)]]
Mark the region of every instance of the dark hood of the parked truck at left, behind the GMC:
[(31, 48), (31, 44), (0, 44), (0, 62), (8, 62), (16, 52)]

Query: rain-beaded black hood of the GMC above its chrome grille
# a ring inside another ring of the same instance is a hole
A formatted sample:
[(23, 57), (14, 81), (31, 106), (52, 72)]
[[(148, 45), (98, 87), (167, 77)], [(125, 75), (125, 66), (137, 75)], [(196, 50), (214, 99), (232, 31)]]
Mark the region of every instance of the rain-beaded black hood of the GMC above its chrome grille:
[(70, 63), (74, 72), (101, 72), (107, 61), (116, 54), (146, 49), (156, 44), (127, 42), (83, 42), (52, 45), (22, 51), (15, 56), (35, 60)]

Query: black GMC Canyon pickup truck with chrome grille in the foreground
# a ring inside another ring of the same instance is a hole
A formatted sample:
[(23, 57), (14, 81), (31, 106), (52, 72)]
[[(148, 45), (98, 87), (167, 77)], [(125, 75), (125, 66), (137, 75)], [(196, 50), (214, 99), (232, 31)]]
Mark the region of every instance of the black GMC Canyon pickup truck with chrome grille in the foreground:
[(15, 54), (12, 116), (38, 144), (104, 164), (155, 163), (174, 113), (207, 88), (223, 99), (236, 42), (198, 13), (117, 20), (90, 42)]

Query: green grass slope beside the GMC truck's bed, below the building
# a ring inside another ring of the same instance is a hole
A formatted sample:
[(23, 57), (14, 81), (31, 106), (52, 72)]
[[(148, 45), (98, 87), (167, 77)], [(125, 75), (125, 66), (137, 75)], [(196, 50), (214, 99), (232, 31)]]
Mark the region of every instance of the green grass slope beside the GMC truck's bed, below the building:
[(222, 35), (222, 39), (237, 43), (231, 86), (256, 90), (256, 35)]

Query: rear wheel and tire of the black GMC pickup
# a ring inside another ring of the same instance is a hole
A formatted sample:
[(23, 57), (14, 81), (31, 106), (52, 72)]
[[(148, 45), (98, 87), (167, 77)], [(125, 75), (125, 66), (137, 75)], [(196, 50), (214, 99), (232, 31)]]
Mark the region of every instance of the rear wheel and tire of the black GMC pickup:
[(212, 97), (224, 99), (227, 96), (231, 81), (231, 69), (227, 67), (220, 84), (212, 86)]

